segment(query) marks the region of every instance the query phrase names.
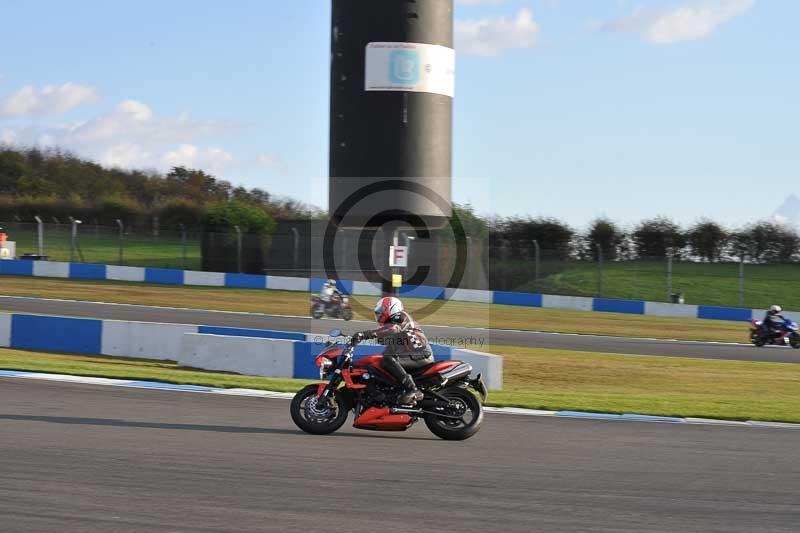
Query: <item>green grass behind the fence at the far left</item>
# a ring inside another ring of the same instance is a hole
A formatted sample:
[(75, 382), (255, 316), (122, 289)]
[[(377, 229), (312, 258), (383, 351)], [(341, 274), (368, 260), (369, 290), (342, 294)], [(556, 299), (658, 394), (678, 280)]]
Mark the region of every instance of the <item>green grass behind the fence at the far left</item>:
[[(9, 240), (16, 241), (17, 255), (38, 253), (38, 237), (35, 229), (9, 229)], [(59, 229), (47, 226), (44, 236), (45, 254), (51, 261), (69, 261), (72, 237), (69, 224)], [(74, 254), (75, 261), (86, 263), (119, 264), (119, 239), (108, 228), (95, 230), (92, 225), (82, 225), (78, 232), (80, 251)], [(186, 260), (183, 260), (181, 237), (174, 232), (165, 232), (158, 237), (147, 234), (127, 234), (123, 249), (123, 264), (127, 266), (150, 266), (161, 268), (185, 268), (199, 270), (201, 265), (200, 241), (188, 238)]]

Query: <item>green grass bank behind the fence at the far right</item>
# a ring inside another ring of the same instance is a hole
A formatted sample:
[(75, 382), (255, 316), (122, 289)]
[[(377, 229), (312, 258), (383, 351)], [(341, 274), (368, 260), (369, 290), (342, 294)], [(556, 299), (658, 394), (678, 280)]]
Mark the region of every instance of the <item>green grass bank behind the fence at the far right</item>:
[[(800, 263), (745, 265), (742, 307), (767, 308), (778, 303), (800, 310)], [(578, 296), (598, 295), (598, 268), (591, 263), (570, 263), (526, 290)], [(739, 307), (739, 265), (732, 263), (673, 264), (672, 289), (686, 303)], [(647, 301), (667, 300), (666, 261), (625, 261), (603, 265), (602, 296)]]

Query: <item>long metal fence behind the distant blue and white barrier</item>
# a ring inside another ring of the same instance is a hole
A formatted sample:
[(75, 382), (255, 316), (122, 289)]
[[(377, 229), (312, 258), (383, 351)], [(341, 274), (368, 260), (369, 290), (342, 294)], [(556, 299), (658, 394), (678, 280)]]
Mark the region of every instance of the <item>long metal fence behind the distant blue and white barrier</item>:
[[(708, 263), (686, 258), (609, 260), (542, 250), (534, 243), (498, 245), (476, 236), (341, 229), (325, 222), (282, 225), (273, 235), (203, 233), (186, 228), (128, 228), (66, 223), (0, 223), (17, 255), (55, 261), (266, 273), (380, 281), (396, 238), (410, 248), (405, 282), (573, 296), (800, 309), (800, 264)], [(597, 254), (595, 254), (597, 255)], [(396, 269), (395, 269), (396, 270)], [(397, 270), (396, 270), (397, 271)]]

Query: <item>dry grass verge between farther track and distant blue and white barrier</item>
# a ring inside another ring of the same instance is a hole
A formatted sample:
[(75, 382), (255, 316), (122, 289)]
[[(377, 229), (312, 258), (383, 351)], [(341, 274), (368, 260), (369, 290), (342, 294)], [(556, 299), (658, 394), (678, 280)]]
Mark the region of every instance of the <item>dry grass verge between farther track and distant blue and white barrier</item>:
[[(187, 307), (219, 311), (245, 311), (286, 315), (308, 315), (308, 293), (232, 289), (222, 287), (178, 287), (114, 281), (0, 276), (0, 293), (8, 296), (60, 298)], [(373, 297), (356, 296), (370, 311), (356, 318), (371, 320)], [(623, 337), (747, 342), (748, 325), (739, 322), (664, 318), (621, 313), (591, 313), (539, 309), (470, 302), (444, 302), (429, 316), (418, 314), (430, 301), (404, 299), (406, 307), (424, 324), (473, 328), (520, 329), (559, 333), (586, 333)], [(2, 304), (0, 304), (2, 305)]]

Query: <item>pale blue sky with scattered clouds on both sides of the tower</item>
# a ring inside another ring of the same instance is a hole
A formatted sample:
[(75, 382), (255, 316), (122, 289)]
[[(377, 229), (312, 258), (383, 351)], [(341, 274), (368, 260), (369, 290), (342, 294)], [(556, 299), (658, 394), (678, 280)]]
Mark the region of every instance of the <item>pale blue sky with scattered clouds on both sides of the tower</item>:
[[(0, 0), (0, 143), (327, 207), (330, 2)], [(800, 193), (800, 2), (456, 0), (453, 197), (737, 226)]]

